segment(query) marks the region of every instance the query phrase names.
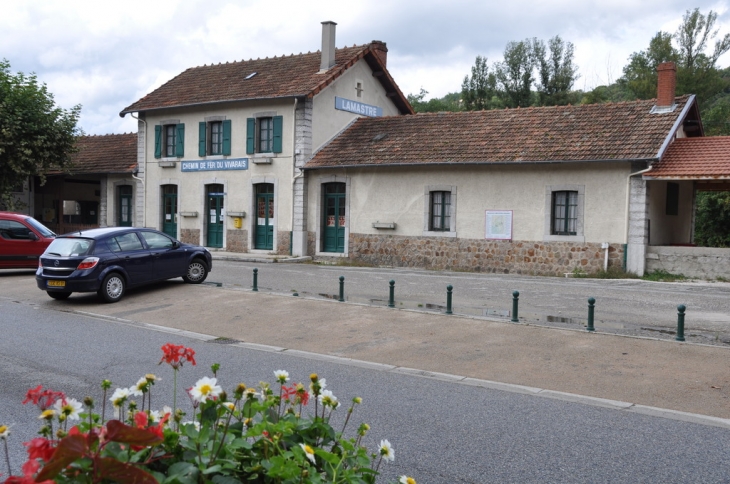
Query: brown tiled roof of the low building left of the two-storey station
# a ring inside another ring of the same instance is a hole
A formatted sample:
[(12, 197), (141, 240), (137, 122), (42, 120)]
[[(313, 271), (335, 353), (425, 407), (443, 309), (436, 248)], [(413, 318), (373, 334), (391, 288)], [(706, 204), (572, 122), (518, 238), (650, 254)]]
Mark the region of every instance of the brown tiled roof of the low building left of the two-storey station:
[(80, 136), (71, 174), (132, 173), (137, 168), (137, 133)]

